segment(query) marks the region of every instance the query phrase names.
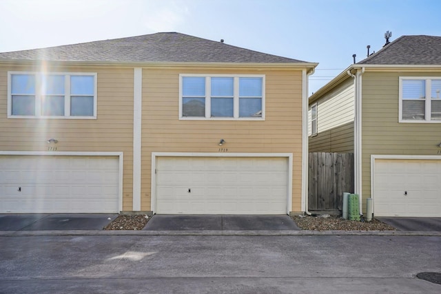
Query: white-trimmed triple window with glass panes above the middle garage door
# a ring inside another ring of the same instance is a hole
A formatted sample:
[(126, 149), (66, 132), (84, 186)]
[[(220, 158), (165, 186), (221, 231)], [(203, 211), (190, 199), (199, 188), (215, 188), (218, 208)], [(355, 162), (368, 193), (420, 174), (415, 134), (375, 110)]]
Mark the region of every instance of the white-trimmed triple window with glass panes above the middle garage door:
[(265, 76), (179, 76), (179, 118), (213, 120), (265, 119)]

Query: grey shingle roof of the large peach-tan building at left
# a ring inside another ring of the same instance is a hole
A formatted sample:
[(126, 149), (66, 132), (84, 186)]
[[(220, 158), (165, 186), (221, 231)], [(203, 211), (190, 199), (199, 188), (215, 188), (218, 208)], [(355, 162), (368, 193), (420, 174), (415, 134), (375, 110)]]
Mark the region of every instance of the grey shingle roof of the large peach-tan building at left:
[(305, 63), (177, 32), (161, 32), (0, 53), (1, 60), (99, 62)]

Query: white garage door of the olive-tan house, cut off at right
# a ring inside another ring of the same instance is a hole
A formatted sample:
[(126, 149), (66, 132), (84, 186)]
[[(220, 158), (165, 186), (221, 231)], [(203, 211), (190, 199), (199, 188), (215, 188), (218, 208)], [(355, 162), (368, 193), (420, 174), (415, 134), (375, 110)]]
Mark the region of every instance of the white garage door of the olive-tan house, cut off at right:
[(376, 159), (375, 216), (441, 217), (441, 160)]

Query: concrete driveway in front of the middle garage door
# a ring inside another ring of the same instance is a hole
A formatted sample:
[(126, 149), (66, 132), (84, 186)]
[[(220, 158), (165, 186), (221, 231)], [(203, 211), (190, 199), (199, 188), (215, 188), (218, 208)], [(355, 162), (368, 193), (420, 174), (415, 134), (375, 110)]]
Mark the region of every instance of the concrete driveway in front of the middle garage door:
[(154, 215), (143, 231), (280, 231), (300, 230), (287, 215)]

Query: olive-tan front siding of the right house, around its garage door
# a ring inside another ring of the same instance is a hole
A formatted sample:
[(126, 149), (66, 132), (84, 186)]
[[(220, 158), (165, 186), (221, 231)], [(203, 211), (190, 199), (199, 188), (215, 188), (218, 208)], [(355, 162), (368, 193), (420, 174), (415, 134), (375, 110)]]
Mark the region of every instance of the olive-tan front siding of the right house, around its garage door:
[(362, 76), (362, 196), (371, 196), (371, 154), (437, 155), (441, 123), (398, 123), (398, 78), (441, 72), (365, 72)]

